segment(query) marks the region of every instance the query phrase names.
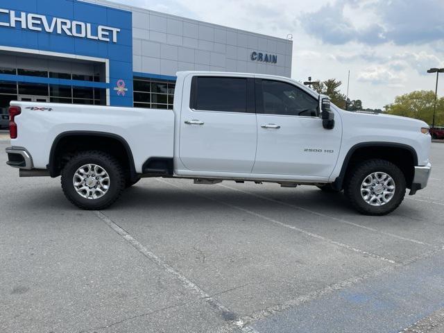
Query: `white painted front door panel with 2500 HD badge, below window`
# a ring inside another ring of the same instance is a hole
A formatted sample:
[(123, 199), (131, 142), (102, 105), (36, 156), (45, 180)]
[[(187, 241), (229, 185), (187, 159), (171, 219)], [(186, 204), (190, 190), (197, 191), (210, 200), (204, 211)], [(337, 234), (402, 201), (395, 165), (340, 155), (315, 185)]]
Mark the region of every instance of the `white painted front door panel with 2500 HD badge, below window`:
[[(341, 119), (336, 114), (333, 130), (325, 130), (322, 119), (257, 114), (257, 154), (253, 173), (328, 177), (341, 147)], [(275, 123), (279, 129), (261, 128)], [(285, 148), (284, 148), (285, 147)], [(321, 149), (307, 153), (306, 148)], [(324, 153), (332, 150), (334, 153)]]

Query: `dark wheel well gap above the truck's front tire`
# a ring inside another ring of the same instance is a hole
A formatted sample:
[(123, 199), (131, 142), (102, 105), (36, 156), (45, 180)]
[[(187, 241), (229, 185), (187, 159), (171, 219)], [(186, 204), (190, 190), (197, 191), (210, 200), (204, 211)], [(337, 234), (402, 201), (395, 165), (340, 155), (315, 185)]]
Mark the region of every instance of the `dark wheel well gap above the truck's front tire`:
[(352, 150), (345, 158), (343, 170), (341, 170), (341, 188), (343, 180), (350, 174), (350, 170), (359, 162), (370, 159), (387, 160), (395, 164), (404, 173), (407, 188), (411, 188), (415, 174), (415, 166), (418, 164), (418, 157), (413, 148), (407, 146), (361, 146)]

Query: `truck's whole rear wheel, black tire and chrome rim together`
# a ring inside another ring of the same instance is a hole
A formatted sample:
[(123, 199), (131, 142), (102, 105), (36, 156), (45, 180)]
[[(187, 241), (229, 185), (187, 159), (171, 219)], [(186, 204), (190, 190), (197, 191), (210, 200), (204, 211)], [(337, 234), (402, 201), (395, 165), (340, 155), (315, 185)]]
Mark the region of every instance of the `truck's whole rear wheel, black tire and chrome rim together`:
[(119, 162), (101, 151), (84, 151), (71, 157), (62, 170), (62, 190), (83, 210), (103, 210), (112, 205), (125, 187)]

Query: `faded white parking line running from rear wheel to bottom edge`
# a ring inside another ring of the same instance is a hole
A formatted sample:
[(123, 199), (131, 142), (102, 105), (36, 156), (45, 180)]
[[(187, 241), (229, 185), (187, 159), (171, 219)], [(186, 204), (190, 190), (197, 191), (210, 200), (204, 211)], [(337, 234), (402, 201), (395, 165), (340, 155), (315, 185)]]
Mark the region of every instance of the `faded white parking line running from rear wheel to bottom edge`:
[(218, 311), (221, 316), (223, 316), (224, 318), (230, 318), (230, 321), (232, 321), (234, 325), (241, 329), (241, 332), (258, 333), (257, 330), (255, 330), (253, 327), (248, 327), (247, 325), (245, 325), (244, 321), (242, 321), (240, 318), (237, 318), (237, 314), (234, 314), (233, 311), (227, 309), (218, 300), (212, 298), (212, 296), (210, 296), (206, 291), (200, 289), (197, 284), (189, 280), (185, 275), (183, 275), (179, 271), (176, 271), (176, 269), (164, 262), (162, 259), (160, 259), (160, 257), (157, 257), (155, 253), (148, 250), (148, 248), (137, 241), (137, 239), (135, 239), (128, 231), (121, 228), (120, 225), (112, 221), (112, 219), (103, 214), (103, 212), (96, 211), (95, 213), (96, 216), (99, 217), (99, 219), (101, 219), (106, 225), (108, 225), (108, 227), (114, 230), (114, 232), (119, 234), (120, 237), (128, 241), (128, 243), (131, 244), (137, 251), (139, 251), (139, 253), (142, 253), (142, 255), (150, 259), (151, 262), (162, 268), (165, 272), (173, 275), (177, 280), (181, 282), (183, 287), (194, 291), (198, 298), (205, 300), (205, 302), (207, 302), (210, 307), (212, 307), (212, 309), (216, 309), (216, 311)]

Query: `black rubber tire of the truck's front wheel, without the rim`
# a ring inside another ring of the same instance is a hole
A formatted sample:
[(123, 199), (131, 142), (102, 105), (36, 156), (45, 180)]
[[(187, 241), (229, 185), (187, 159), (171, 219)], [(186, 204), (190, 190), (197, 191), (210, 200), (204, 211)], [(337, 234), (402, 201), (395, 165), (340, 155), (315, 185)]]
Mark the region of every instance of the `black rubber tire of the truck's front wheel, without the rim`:
[[(368, 175), (383, 172), (393, 178), (395, 193), (388, 203), (380, 206), (370, 205), (361, 196), (361, 185)], [(365, 215), (382, 216), (393, 212), (404, 200), (406, 180), (404, 173), (393, 163), (386, 160), (367, 160), (357, 164), (348, 174), (344, 192), (352, 206)]]

